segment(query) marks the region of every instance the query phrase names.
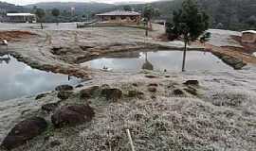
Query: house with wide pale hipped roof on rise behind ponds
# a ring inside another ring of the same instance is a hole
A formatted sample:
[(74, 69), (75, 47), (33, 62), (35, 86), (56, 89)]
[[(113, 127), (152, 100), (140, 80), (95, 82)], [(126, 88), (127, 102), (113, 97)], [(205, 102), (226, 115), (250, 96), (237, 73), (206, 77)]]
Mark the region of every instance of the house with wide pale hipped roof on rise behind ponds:
[(133, 25), (139, 24), (141, 14), (136, 11), (115, 10), (97, 14), (100, 24)]

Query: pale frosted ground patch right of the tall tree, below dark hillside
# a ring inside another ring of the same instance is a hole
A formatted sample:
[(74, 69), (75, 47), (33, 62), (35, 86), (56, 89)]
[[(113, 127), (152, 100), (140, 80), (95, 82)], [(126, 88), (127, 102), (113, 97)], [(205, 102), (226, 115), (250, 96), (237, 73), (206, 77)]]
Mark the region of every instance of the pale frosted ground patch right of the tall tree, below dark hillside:
[(209, 29), (211, 33), (210, 44), (214, 46), (234, 46), (243, 47), (239, 42), (231, 39), (230, 36), (242, 36), (241, 32), (230, 31), (230, 30), (220, 30), (220, 29)]

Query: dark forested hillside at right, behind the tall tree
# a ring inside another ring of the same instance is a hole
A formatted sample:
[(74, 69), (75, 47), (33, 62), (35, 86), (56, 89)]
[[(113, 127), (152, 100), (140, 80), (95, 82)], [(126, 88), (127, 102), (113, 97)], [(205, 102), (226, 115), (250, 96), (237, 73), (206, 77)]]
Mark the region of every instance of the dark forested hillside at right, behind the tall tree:
[[(183, 0), (162, 1), (152, 5), (159, 8), (162, 18), (172, 18), (173, 11), (180, 8), (182, 2)], [(210, 15), (210, 25), (213, 28), (256, 29), (255, 0), (198, 0), (198, 4)]]

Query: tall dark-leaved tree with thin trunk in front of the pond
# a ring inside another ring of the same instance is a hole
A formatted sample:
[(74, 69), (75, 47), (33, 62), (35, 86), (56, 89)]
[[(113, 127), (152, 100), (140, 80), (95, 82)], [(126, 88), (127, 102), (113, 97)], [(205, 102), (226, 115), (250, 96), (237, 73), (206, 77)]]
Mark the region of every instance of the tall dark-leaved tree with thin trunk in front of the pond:
[(182, 71), (185, 71), (187, 46), (209, 28), (209, 16), (199, 9), (194, 0), (185, 0), (182, 8), (174, 11), (173, 22), (172, 32), (185, 43), (182, 63)]

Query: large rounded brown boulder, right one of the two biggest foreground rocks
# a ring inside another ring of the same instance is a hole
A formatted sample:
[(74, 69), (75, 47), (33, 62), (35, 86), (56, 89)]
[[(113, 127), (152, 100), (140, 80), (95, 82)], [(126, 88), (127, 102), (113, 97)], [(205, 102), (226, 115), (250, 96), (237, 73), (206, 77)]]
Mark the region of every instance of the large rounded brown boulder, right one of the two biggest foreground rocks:
[(55, 127), (75, 126), (91, 121), (94, 115), (94, 109), (89, 105), (65, 106), (54, 112), (51, 122)]

